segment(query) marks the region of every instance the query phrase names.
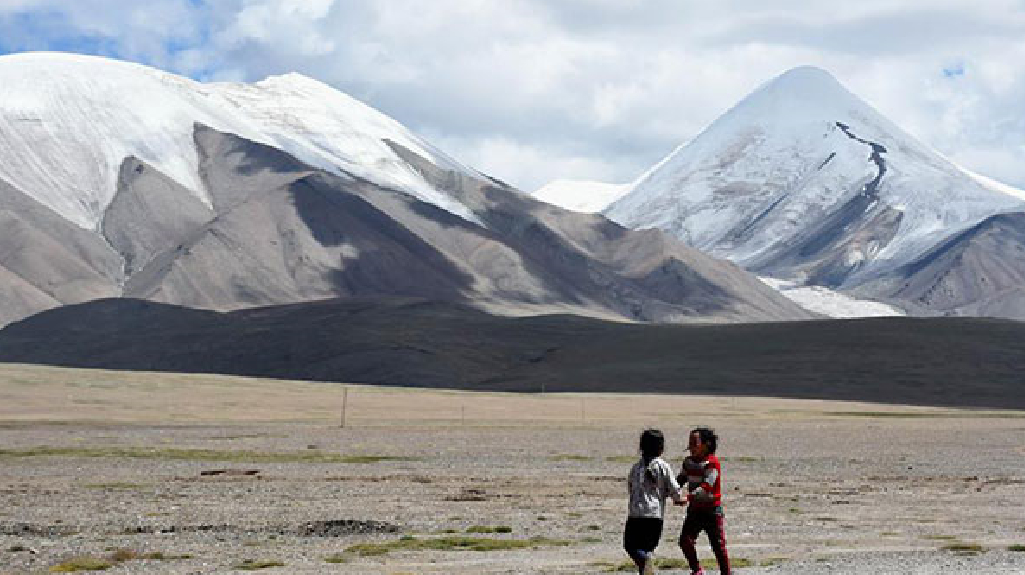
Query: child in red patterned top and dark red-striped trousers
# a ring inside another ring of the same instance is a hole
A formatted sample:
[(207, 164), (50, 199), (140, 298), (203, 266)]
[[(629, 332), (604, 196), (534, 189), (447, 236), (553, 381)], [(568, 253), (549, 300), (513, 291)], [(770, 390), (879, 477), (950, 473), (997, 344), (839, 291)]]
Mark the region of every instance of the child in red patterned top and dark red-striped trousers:
[(698, 553), (694, 548), (698, 534), (708, 534), (708, 543), (715, 553), (720, 573), (730, 573), (730, 558), (726, 552), (726, 528), (723, 516), (723, 467), (715, 457), (719, 438), (708, 427), (698, 427), (691, 432), (687, 449), (690, 456), (684, 459), (684, 467), (676, 481), (687, 487), (687, 519), (680, 533), (680, 548), (683, 549), (691, 573), (703, 574)]

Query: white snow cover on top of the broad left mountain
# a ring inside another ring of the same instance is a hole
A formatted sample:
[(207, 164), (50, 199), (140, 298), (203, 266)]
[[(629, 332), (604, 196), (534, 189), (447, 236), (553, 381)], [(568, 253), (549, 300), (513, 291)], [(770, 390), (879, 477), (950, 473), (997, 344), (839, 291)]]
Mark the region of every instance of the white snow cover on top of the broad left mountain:
[(297, 74), (255, 84), (203, 84), (136, 64), (30, 52), (0, 56), (0, 178), (82, 228), (98, 224), (128, 156), (209, 205), (193, 142), (196, 123), (400, 190), (479, 223), (385, 140), (446, 169), (476, 172), (395, 120)]

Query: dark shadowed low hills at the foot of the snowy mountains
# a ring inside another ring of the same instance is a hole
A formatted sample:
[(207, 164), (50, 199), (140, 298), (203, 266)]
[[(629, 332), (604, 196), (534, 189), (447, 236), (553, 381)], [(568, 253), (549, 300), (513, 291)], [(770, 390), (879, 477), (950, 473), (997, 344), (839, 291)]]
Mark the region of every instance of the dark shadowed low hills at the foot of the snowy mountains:
[(0, 361), (505, 392), (1025, 408), (1025, 323), (977, 318), (702, 326), (503, 318), (409, 297), (231, 313), (107, 299), (0, 330)]

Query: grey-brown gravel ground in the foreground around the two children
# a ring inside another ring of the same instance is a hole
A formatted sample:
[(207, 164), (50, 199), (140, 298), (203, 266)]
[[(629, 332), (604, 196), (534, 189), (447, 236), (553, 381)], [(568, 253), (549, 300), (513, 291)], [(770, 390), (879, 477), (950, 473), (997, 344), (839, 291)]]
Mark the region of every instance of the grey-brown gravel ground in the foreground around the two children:
[[(840, 412), (655, 420), (674, 467), (690, 426), (719, 430), (739, 572), (1025, 572), (1025, 551), (1010, 550), (1025, 544), (1023, 414)], [(287, 573), (600, 573), (626, 561), (623, 478), (643, 426), (8, 422), (0, 573), (118, 549), (109, 573), (246, 561)], [(682, 559), (682, 520), (670, 508), (659, 557)], [(557, 541), (346, 552), (454, 535)]]

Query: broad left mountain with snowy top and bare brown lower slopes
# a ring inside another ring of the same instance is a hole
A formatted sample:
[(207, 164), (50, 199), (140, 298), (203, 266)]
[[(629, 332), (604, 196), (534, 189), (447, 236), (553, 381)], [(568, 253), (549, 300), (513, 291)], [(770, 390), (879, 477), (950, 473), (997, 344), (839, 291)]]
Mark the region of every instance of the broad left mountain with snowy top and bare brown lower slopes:
[(0, 325), (129, 296), (399, 295), (640, 321), (811, 317), (656, 232), (531, 199), (315, 80), (0, 56)]

